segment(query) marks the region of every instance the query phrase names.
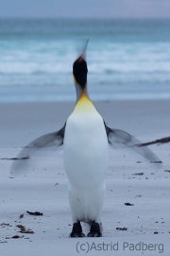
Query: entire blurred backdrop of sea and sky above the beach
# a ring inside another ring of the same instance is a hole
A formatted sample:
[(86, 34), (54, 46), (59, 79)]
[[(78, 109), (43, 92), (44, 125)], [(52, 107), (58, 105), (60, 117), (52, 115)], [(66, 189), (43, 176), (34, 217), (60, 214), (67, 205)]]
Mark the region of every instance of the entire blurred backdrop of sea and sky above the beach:
[(6, 0), (0, 102), (76, 101), (86, 40), (93, 101), (170, 99), (169, 0)]

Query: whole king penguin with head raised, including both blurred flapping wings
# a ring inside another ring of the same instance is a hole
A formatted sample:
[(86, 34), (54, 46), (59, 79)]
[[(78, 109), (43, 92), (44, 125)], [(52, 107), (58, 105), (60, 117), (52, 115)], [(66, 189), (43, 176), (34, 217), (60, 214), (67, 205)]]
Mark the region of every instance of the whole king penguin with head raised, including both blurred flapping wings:
[[(88, 43), (88, 42), (87, 42)], [(17, 155), (10, 167), (11, 174), (25, 169), (26, 161), (44, 147), (63, 145), (65, 172), (68, 177), (69, 203), (72, 212), (73, 229), (70, 237), (83, 237), (80, 222), (88, 222), (89, 237), (102, 236), (101, 214), (104, 206), (105, 177), (109, 160), (109, 145), (132, 149), (149, 161), (160, 158), (142, 142), (120, 129), (112, 129), (95, 109), (87, 91), (86, 46), (73, 64), (76, 85), (76, 105), (63, 127), (54, 133), (43, 135), (31, 141)]]

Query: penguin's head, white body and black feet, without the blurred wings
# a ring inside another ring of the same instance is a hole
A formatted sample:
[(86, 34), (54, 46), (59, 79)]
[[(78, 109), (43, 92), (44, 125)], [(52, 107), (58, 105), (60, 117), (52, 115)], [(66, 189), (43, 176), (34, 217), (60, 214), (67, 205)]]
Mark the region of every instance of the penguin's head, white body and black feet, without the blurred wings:
[(71, 237), (84, 236), (80, 222), (92, 223), (88, 236), (101, 236), (109, 145), (105, 124), (87, 93), (85, 50), (73, 65), (76, 106), (67, 119), (63, 142), (73, 218)]

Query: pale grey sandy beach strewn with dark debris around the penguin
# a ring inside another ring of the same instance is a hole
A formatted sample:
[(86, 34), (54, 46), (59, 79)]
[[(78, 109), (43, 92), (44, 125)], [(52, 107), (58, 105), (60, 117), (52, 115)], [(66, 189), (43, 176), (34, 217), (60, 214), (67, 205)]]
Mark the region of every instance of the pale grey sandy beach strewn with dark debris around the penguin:
[[(108, 126), (122, 129), (143, 142), (169, 137), (168, 100), (94, 104)], [(1, 255), (15, 252), (17, 256), (38, 253), (67, 256), (88, 252), (89, 255), (168, 256), (170, 143), (149, 147), (161, 158), (160, 168), (127, 149), (110, 150), (101, 238), (69, 238), (72, 218), (62, 149), (35, 157), (28, 172), (14, 178), (9, 174), (9, 158), (15, 157), (32, 139), (59, 130), (73, 108), (74, 102), (0, 104)], [(40, 211), (43, 215), (32, 216), (26, 210)], [(21, 233), (17, 225), (34, 233)], [(88, 232), (86, 224), (83, 230)], [(20, 238), (12, 239), (15, 235)]]

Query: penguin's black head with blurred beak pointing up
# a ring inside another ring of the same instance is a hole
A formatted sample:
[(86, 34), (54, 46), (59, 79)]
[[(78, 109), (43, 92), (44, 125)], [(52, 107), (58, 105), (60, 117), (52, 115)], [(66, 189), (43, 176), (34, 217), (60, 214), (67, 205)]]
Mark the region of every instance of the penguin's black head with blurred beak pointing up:
[(75, 63), (73, 64), (74, 81), (76, 85), (81, 87), (81, 89), (84, 89), (87, 84), (88, 68), (85, 57), (88, 41), (86, 42), (86, 46), (84, 47), (82, 54), (76, 59)]

